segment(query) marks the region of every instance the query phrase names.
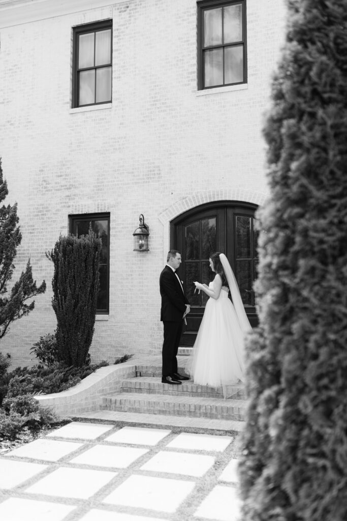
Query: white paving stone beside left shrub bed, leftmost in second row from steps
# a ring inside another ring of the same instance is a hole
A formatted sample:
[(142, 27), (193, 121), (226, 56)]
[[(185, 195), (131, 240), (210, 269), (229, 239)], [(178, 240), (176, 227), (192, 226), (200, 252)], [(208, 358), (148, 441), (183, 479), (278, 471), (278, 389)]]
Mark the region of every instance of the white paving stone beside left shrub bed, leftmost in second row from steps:
[(61, 457), (79, 449), (83, 443), (56, 441), (40, 438), (8, 452), (6, 456), (30, 457), (34, 460), (58, 461)]

